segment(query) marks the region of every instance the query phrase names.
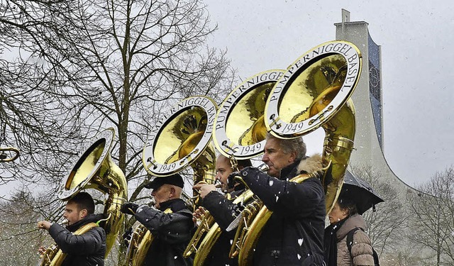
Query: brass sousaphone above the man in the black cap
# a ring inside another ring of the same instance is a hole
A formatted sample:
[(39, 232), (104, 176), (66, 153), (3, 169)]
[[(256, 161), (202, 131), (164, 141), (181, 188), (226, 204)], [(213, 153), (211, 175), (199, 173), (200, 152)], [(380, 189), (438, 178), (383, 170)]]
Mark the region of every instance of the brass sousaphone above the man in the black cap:
[[(216, 104), (207, 96), (180, 101), (151, 129), (143, 149), (143, 165), (155, 178), (186, 169), (194, 170), (194, 184), (214, 184), (216, 155), (211, 144)], [(190, 205), (196, 206), (196, 198)], [(133, 232), (126, 253), (126, 265), (143, 265), (153, 235), (143, 225)]]

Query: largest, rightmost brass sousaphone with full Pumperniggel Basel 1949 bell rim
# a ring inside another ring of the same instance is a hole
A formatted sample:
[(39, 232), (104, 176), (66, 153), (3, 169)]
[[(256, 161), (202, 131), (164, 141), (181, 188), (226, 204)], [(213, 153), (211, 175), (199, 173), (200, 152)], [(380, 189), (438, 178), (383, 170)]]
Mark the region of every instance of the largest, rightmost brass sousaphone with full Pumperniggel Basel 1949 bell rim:
[[(299, 57), (277, 81), (267, 100), (265, 125), (277, 138), (296, 138), (322, 127), (323, 177), (327, 214), (341, 191), (355, 137), (355, 109), (350, 96), (362, 69), (360, 50), (346, 41), (331, 41)], [(304, 182), (300, 174), (292, 182)], [(272, 212), (265, 206), (240, 242), (239, 265), (252, 263), (253, 250)]]

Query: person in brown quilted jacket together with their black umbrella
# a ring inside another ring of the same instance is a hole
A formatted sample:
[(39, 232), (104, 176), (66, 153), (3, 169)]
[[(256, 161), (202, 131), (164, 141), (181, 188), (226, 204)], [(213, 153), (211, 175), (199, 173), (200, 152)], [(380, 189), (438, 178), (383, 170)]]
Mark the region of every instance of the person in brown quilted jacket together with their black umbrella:
[(328, 214), (331, 224), (325, 229), (323, 239), (324, 260), (328, 266), (374, 266), (378, 256), (365, 233), (362, 214), (372, 206), (375, 209), (375, 204), (383, 200), (369, 184), (350, 172), (345, 173), (344, 182), (341, 194)]

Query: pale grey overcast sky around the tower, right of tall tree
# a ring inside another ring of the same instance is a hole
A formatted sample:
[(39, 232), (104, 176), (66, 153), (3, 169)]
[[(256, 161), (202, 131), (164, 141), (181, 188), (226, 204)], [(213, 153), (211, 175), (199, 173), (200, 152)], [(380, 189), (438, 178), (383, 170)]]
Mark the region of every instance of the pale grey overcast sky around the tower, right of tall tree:
[[(343, 3), (341, 3), (343, 2)], [(286, 68), (304, 52), (336, 38), (341, 9), (366, 21), (382, 46), (384, 147), (389, 166), (414, 186), (454, 165), (454, 1), (206, 0), (242, 79)], [(323, 131), (304, 138), (321, 152)]]

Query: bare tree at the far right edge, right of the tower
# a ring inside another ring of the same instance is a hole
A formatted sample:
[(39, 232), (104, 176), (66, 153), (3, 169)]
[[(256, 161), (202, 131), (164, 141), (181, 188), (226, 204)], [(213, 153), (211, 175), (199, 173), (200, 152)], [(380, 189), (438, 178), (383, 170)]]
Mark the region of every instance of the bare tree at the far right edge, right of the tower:
[(436, 265), (454, 264), (454, 168), (436, 172), (411, 198), (413, 232), (409, 238), (433, 250)]

